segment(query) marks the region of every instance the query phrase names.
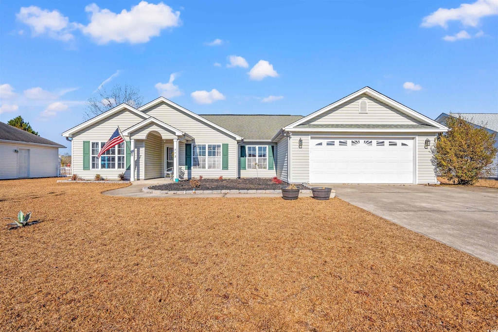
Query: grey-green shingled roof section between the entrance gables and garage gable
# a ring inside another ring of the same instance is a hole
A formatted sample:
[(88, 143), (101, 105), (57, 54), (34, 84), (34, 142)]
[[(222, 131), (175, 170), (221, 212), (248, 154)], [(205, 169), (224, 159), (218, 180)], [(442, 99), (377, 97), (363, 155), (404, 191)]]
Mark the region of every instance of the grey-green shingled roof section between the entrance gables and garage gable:
[(273, 135), (302, 115), (201, 114), (202, 117), (244, 137), (245, 141), (270, 141)]

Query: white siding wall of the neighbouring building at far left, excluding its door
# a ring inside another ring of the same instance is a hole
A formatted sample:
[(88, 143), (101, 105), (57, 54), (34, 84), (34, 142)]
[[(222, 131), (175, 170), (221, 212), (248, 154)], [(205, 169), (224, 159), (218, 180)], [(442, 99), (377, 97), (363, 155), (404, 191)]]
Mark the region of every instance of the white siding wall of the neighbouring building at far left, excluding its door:
[(29, 143), (0, 142), (0, 179), (17, 178), (15, 149), (29, 149), (29, 177), (56, 177), (59, 169), (59, 149)]

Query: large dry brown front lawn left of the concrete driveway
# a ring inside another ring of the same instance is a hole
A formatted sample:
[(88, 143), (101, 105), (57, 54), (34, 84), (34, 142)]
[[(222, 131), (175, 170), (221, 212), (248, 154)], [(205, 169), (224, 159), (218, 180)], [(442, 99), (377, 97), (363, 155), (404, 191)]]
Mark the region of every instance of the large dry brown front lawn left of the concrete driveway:
[[(498, 267), (339, 199), (0, 181), (1, 331), (484, 331)], [(6, 223), (6, 221), (5, 221)]]

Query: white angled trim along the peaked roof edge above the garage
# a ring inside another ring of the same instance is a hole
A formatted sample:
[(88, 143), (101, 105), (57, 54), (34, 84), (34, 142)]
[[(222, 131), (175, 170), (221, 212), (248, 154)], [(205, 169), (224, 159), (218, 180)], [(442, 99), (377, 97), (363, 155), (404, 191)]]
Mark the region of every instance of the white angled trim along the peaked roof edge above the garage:
[(362, 94), (366, 94), (370, 97), (375, 98), (376, 100), (379, 100), (387, 105), (390, 105), (391, 107), (395, 108), (396, 110), (401, 111), (401, 112), (403, 112), (403, 113), (405, 113), (405, 114), (407, 114), (415, 119), (418, 119), (419, 121), (426, 123), (429, 126), (432, 126), (432, 128), (437, 129), (438, 131), (448, 131), (448, 128), (446, 126), (442, 125), (441, 123), (434, 121), (433, 119), (430, 119), (429, 117), (427, 117), (423, 114), (420, 114), (419, 112), (414, 111), (414, 110), (404, 106), (403, 104), (398, 103), (395, 100), (390, 99), (387, 96), (382, 95), (380, 92), (375, 91), (370, 87), (365, 87), (363, 89), (360, 89), (360, 90), (352, 93), (351, 95), (346, 96), (346, 97), (338, 100), (335, 103), (332, 103), (332, 104), (330, 104), (330, 105), (328, 105), (328, 106), (326, 106), (318, 111), (315, 111), (315, 112), (285, 126), (284, 129), (292, 131), (299, 124), (301, 124), (309, 119), (312, 119), (312, 118), (314, 118), (314, 117), (316, 117), (316, 116), (318, 116), (326, 111), (330, 111), (333, 108), (335, 108), (341, 104), (344, 104), (344, 103), (346, 103), (346, 102), (352, 100), (353, 98), (356, 98)]

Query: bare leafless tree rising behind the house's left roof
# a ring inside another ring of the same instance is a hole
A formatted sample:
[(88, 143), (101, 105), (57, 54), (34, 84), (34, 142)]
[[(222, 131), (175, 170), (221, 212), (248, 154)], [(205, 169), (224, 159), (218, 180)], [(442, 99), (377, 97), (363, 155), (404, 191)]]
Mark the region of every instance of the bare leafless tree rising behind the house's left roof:
[(86, 103), (85, 120), (102, 114), (118, 105), (127, 104), (131, 107), (138, 108), (142, 105), (143, 97), (140, 90), (136, 87), (125, 84), (115, 85), (111, 91), (101, 88), (97, 90), (96, 97), (90, 97)]

